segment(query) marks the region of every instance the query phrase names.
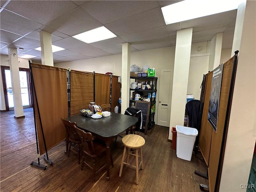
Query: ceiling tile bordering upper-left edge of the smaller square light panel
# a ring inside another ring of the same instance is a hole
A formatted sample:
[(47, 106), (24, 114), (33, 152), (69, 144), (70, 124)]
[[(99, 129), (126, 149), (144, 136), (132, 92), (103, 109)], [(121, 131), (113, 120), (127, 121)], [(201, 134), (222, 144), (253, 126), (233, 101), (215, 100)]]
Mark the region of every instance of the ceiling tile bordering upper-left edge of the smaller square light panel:
[(76, 8), (48, 24), (48, 27), (70, 36), (74, 36), (100, 26), (102, 26), (102, 24), (98, 20), (90, 16), (90, 14), (86, 13), (81, 8)]

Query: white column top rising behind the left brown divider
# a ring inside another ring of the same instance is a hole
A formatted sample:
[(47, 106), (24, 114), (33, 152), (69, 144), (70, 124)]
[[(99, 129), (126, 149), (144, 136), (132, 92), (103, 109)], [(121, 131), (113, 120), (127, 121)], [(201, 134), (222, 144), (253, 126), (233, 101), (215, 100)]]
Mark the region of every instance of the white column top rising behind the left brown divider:
[(42, 65), (54, 66), (52, 55), (52, 34), (40, 31)]

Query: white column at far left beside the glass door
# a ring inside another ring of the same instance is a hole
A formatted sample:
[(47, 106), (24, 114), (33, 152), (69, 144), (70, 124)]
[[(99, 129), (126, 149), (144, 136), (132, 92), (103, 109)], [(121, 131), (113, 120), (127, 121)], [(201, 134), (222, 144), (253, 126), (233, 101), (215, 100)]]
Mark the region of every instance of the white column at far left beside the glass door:
[(12, 96), (14, 102), (14, 118), (25, 117), (23, 113), (21, 91), (20, 91), (20, 74), (17, 49), (8, 48), (10, 72), (12, 79)]

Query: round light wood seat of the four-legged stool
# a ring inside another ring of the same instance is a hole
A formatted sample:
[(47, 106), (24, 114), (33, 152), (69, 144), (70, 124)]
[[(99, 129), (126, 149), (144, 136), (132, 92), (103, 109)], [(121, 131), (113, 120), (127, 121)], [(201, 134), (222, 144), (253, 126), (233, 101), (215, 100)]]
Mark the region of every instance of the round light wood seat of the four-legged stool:
[(144, 146), (145, 139), (139, 135), (129, 134), (122, 138), (122, 142), (124, 146), (136, 149)]

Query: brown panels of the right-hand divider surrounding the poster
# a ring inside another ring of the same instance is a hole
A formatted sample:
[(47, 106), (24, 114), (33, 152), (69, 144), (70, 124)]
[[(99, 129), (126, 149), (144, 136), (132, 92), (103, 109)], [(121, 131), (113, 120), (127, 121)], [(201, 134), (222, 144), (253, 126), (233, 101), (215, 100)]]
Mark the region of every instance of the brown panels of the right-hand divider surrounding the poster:
[(213, 71), (208, 73), (204, 110), (199, 137), (199, 148), (202, 152), (206, 164), (208, 165), (210, 192), (213, 192), (216, 186), (217, 172), (220, 162), (220, 153), (222, 150), (224, 126), (226, 121), (226, 113), (228, 109), (228, 100), (230, 96), (230, 84), (234, 67), (234, 57), (235, 56), (230, 58), (223, 65), (217, 132), (214, 131), (214, 129), (208, 122), (208, 108)]

